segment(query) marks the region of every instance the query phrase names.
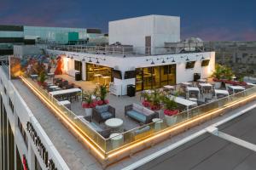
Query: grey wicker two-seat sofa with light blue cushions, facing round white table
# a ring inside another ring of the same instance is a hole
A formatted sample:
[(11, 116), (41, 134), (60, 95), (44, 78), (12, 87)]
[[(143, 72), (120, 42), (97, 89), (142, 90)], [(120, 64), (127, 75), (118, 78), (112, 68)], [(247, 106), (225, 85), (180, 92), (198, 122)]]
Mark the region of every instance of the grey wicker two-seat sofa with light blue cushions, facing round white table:
[(153, 118), (158, 118), (159, 114), (141, 105), (132, 104), (125, 106), (125, 116), (130, 116), (137, 122), (147, 124), (149, 122), (152, 122)]

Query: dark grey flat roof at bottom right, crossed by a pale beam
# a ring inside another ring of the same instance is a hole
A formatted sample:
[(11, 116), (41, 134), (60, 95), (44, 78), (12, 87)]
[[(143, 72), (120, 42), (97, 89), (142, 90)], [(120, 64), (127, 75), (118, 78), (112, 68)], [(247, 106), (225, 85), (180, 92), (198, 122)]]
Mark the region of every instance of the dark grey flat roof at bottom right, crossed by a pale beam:
[[(248, 111), (219, 126), (219, 131), (228, 133), (256, 144), (256, 109)], [(248, 150), (240, 145), (221, 139), (211, 133), (204, 133), (196, 139), (177, 147), (149, 161), (137, 170), (215, 170), (215, 169), (256, 169), (256, 152)]]

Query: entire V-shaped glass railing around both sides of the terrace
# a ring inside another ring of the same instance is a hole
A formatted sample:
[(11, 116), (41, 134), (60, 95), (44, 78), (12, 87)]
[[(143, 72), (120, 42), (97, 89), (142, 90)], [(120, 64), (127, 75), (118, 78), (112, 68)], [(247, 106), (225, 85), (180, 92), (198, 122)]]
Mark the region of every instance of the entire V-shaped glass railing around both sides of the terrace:
[(112, 152), (113, 150), (117, 150), (121, 147), (134, 144), (139, 140), (143, 140), (150, 136), (154, 136), (155, 134), (164, 132), (166, 129), (189, 121), (196, 116), (202, 116), (210, 111), (212, 112), (215, 110), (217, 111), (219, 109), (224, 109), (225, 107), (232, 104), (236, 105), (235, 103), (237, 101), (246, 99), (247, 97), (256, 94), (256, 87), (248, 88), (237, 94), (232, 94), (225, 98), (212, 101), (211, 103), (197, 106), (193, 109), (190, 109), (189, 111), (180, 112), (177, 116), (172, 116), (173, 119), (171, 122), (167, 122), (166, 119), (160, 119), (157, 122), (150, 122), (141, 127), (128, 130), (125, 133), (118, 133), (112, 138), (105, 139), (101, 134), (97, 133), (94, 129), (90, 128), (86, 123), (84, 123), (84, 121), (79, 116), (76, 116), (72, 111), (68, 110), (67, 107), (59, 105), (58, 101), (49, 95), (48, 92), (44, 90), (44, 88), (41, 88), (37, 82), (32, 81), (31, 78), (26, 78), (26, 81), (32, 84), (32, 86), (36, 88), (36, 90), (41, 95), (44, 96), (44, 99), (48, 99), (51, 104), (55, 106), (55, 109), (61, 112), (61, 116), (66, 117), (68, 122), (70, 122), (74, 127), (76, 127), (76, 129), (79, 130), (79, 133), (89, 138), (92, 143), (96, 144), (96, 146), (99, 147), (106, 155), (108, 155), (108, 153)]

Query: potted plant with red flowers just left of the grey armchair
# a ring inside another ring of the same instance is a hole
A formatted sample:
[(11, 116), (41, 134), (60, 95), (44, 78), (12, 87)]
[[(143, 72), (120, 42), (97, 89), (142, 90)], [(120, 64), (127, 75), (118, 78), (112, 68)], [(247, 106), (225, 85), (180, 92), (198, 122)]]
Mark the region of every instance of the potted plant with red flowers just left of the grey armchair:
[(92, 108), (96, 107), (96, 100), (93, 98), (93, 96), (93, 93), (91, 93), (90, 91), (85, 91), (83, 93), (82, 107), (84, 108), (86, 116), (91, 116)]

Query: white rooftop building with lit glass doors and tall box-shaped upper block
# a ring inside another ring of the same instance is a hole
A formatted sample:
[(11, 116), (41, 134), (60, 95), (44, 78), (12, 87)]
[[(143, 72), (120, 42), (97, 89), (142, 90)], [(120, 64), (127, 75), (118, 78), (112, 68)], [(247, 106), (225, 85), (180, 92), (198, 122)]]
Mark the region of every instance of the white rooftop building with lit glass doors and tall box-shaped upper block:
[[(170, 54), (164, 47), (165, 42), (179, 42), (179, 40), (179, 17), (148, 15), (109, 22), (109, 43), (120, 42), (123, 45), (131, 45), (132, 48), (129, 51), (126, 50), (126, 46), (118, 45), (102, 50), (95, 48), (94, 51), (88, 51), (82, 46), (66, 47), (63, 50), (52, 48), (48, 49), (48, 53), (62, 54), (64, 70), (68, 75), (74, 77), (79, 69), (84, 81), (92, 80), (91, 77), (95, 75), (112, 77), (112, 82), (122, 88), (119, 94), (126, 95), (128, 84), (135, 85), (137, 91), (141, 91), (161, 88), (167, 84), (193, 81), (195, 73), (201, 74), (201, 78), (212, 75), (215, 53)], [(146, 53), (148, 51), (150, 53)], [(209, 60), (208, 65), (202, 66), (202, 60)], [(75, 68), (77, 62), (81, 67)], [(192, 66), (188, 66), (189, 64)], [(108, 72), (118, 70), (122, 76), (94, 72), (93, 68), (96, 67), (107, 67)], [(134, 77), (127, 78), (125, 71), (136, 73), (133, 73)]]

